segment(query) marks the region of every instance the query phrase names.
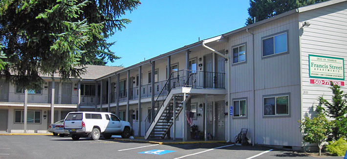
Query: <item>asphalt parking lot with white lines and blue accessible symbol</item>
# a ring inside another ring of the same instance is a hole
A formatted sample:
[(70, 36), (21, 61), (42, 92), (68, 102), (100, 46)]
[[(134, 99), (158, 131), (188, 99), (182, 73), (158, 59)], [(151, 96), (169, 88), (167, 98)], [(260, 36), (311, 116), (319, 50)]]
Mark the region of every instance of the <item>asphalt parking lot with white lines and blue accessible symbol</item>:
[[(1, 159), (312, 159), (290, 151), (260, 146), (236, 146), (230, 143), (159, 145), (112, 139), (78, 141), (59, 136), (0, 136)], [(343, 159), (343, 157), (329, 157)]]

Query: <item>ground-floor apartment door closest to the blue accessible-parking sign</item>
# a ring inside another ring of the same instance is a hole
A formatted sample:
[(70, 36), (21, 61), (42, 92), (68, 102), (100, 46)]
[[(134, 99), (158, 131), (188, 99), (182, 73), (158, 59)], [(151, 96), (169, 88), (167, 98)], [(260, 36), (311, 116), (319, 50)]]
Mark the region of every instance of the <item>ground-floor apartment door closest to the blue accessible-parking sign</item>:
[(216, 128), (215, 128), (215, 139), (223, 140), (225, 139), (225, 129), (224, 129), (224, 101), (215, 102), (216, 111)]

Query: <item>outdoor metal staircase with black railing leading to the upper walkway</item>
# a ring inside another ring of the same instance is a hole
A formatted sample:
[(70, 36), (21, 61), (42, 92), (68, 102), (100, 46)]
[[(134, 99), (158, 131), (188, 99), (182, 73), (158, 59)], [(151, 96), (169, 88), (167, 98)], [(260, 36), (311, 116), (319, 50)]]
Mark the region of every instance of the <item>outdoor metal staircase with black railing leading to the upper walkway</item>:
[[(190, 100), (191, 95), (186, 95), (186, 100), (183, 101), (183, 94), (173, 94), (172, 89), (186, 86), (188, 80), (184, 71), (175, 71), (166, 81), (163, 89), (159, 93), (154, 102), (154, 107), (146, 117), (145, 127), (148, 138), (164, 138), (173, 125), (173, 112), (176, 118), (182, 112), (183, 102)], [(173, 111), (173, 101), (176, 102), (176, 109)]]

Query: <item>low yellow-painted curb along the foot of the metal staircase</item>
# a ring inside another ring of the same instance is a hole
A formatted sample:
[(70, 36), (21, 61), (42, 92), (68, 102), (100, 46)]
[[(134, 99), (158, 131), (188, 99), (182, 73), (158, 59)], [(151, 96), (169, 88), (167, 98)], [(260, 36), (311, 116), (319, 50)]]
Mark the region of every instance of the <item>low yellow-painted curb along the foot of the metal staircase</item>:
[(196, 143), (226, 143), (226, 141), (173, 141), (173, 142), (158, 142), (158, 141), (144, 141), (144, 140), (134, 140), (128, 138), (114, 138), (119, 141), (129, 141), (129, 142), (137, 142), (137, 143), (152, 143), (159, 145), (177, 145), (177, 144), (196, 144)]

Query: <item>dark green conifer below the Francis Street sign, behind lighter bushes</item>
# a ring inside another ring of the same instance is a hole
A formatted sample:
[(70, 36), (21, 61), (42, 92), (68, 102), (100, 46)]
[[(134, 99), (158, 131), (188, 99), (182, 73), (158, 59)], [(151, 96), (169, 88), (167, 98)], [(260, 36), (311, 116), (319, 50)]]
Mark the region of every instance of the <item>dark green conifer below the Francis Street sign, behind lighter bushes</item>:
[(329, 136), (329, 141), (337, 140), (342, 136), (347, 135), (347, 94), (341, 91), (340, 86), (331, 84), (331, 90), (333, 93), (332, 102), (328, 102), (323, 97), (319, 97), (320, 103), (322, 103), (325, 108), (323, 111), (325, 114), (334, 120), (334, 127), (332, 128), (331, 136)]

